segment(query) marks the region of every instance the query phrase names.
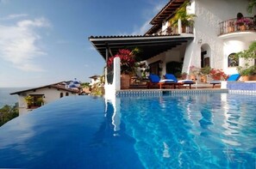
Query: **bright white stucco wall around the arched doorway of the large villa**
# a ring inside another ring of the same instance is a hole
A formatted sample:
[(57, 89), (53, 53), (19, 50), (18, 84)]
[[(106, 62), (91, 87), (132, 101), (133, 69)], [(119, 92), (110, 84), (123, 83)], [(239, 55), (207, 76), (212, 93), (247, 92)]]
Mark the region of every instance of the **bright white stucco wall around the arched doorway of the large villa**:
[[(245, 41), (243, 36), (240, 36), (236, 37), (238, 43), (234, 43), (234, 39), (224, 40), (220, 38), (218, 36), (220, 31), (219, 23), (236, 18), (239, 12), (244, 16), (252, 16), (247, 13), (247, 1), (193, 0), (191, 1), (190, 13), (193, 13), (193, 10), (195, 10), (194, 13), (197, 15), (194, 25), (194, 40), (187, 46), (183, 71), (188, 72), (191, 65), (201, 67), (201, 47), (202, 45), (209, 45), (210, 67), (224, 69), (229, 71), (228, 73), (233, 73), (234, 69), (228, 69), (227, 55), (230, 51), (227, 50), (234, 49), (234, 46), (237, 45), (239, 47), (235, 50), (236, 52), (246, 50), (250, 40)], [(200, 39), (202, 39), (201, 44), (198, 43)]]

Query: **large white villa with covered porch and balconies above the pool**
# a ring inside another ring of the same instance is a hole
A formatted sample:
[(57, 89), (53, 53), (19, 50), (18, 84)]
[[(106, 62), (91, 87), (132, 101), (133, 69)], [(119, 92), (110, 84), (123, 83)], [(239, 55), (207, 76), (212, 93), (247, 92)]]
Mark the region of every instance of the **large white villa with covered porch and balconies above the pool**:
[[(247, 50), (256, 39), (255, 14), (247, 12), (247, 5), (245, 0), (170, 0), (150, 21), (152, 27), (144, 35), (91, 36), (89, 40), (106, 61), (120, 49), (138, 47), (150, 73), (159, 76), (168, 73), (172, 62), (182, 63), (187, 75), (191, 66), (210, 66), (232, 75), (237, 66), (245, 64), (241, 58), (234, 60), (234, 54)], [(182, 8), (189, 19), (177, 19), (176, 11)], [(241, 18), (251, 24), (241, 27)], [(249, 64), (255, 65), (255, 60)], [(113, 84), (106, 81), (106, 94), (120, 90), (120, 73), (116, 71)]]

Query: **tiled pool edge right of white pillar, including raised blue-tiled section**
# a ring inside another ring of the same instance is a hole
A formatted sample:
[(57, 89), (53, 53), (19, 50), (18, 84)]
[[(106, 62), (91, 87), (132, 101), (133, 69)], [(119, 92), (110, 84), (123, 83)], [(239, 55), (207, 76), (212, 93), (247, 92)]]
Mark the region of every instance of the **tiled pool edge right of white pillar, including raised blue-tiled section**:
[(207, 88), (192, 89), (127, 89), (116, 92), (116, 96), (143, 96), (143, 95), (163, 95), (163, 94), (209, 94), (209, 93), (232, 93), (232, 94), (256, 94), (256, 81), (241, 82), (228, 81), (227, 88), (211, 88), (212, 85), (206, 85)]

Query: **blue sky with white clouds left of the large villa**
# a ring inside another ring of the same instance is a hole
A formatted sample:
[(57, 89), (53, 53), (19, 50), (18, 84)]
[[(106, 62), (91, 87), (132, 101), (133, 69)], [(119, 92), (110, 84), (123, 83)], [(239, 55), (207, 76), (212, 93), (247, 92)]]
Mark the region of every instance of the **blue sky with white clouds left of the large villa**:
[(103, 75), (89, 37), (140, 35), (169, 0), (0, 0), (0, 88)]

